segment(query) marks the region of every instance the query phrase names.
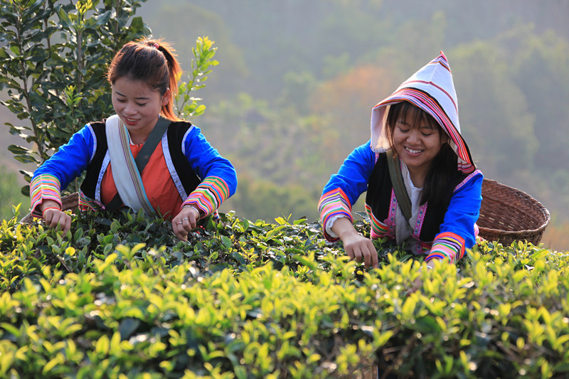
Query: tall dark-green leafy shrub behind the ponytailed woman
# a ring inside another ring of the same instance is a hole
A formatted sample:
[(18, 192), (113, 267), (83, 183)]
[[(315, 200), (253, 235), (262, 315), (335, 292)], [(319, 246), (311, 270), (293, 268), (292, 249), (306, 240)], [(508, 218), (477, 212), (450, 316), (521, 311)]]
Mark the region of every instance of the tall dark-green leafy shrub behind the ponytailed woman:
[(150, 32), (134, 17), (144, 1), (0, 1), (0, 87), (9, 94), (1, 103), (21, 120), (6, 123), (9, 132), (28, 142), (9, 146), (15, 159), (39, 166), (86, 121), (109, 114), (107, 63)]

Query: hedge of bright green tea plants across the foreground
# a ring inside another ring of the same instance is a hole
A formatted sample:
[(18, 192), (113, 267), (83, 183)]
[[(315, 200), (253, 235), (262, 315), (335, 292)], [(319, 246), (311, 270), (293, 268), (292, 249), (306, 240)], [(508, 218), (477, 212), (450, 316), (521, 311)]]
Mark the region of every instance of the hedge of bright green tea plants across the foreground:
[[(367, 233), (368, 224), (356, 228)], [(318, 223), (233, 213), (0, 226), (0, 378), (567, 378), (569, 253), (481, 242), (366, 269)]]

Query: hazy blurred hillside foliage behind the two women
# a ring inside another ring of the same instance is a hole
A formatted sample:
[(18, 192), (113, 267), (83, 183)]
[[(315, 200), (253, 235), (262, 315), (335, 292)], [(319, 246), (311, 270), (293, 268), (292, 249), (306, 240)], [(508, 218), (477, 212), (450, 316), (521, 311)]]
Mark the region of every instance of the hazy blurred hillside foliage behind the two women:
[(238, 170), (222, 210), (317, 219), (321, 188), (369, 138), (373, 105), (444, 50), (479, 168), (546, 205), (543, 242), (569, 250), (567, 1), (171, 0), (137, 16), (186, 71), (196, 37), (215, 41), (193, 122)]

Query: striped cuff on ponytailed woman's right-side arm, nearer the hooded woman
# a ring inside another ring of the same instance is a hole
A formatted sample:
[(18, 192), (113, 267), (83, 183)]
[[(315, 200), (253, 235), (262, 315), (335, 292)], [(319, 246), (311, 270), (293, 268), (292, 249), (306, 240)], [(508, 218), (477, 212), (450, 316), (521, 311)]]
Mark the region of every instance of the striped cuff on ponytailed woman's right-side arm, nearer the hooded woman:
[(190, 193), (190, 196), (181, 206), (196, 205), (205, 217), (215, 212), (228, 197), (229, 187), (227, 183), (218, 176), (208, 176)]

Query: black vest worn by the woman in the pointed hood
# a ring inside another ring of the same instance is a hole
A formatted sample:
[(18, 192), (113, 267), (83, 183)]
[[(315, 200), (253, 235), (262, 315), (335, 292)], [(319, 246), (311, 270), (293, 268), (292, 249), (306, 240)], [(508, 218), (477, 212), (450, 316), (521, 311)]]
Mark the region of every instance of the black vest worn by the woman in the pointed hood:
[[(423, 242), (432, 242), (435, 236), (440, 232), (440, 225), (445, 220), (445, 213), (450, 204), (454, 188), (459, 185), (467, 177), (459, 171), (452, 178), (452, 185), (446, 188), (446, 193), (442, 204), (439, 206), (430, 206), (427, 203), (427, 210), (422, 221), (422, 228), (419, 233), (419, 239)], [(389, 169), (387, 164), (387, 154), (378, 154), (378, 160), (368, 182), (368, 192), (366, 193), (366, 204), (371, 208), (373, 216), (381, 223), (389, 216), (389, 207), (391, 201), (391, 193), (393, 191), (393, 184), (389, 176)], [(415, 225), (413, 225), (415, 228)]]

